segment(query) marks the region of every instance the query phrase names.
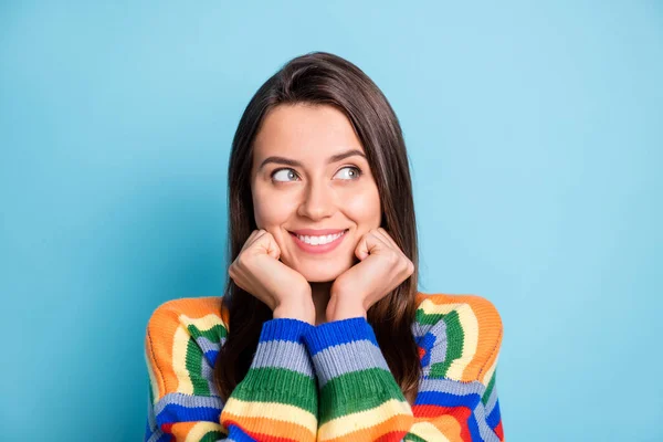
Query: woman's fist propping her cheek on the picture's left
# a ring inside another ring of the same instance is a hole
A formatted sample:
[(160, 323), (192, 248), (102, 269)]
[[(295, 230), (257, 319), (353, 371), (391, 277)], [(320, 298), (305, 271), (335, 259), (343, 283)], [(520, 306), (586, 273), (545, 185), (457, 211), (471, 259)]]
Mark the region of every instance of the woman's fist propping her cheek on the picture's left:
[(308, 281), (278, 259), (281, 249), (266, 230), (254, 230), (228, 273), (234, 283), (265, 303), (274, 318), (315, 323)]

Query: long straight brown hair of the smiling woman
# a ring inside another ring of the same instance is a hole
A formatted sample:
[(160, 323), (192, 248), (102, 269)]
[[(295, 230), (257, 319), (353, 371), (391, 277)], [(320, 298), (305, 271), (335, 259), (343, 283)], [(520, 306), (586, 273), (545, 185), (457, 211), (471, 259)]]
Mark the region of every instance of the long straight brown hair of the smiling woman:
[[(228, 167), (229, 262), (257, 227), (250, 172), (253, 140), (265, 115), (282, 104), (330, 105), (352, 124), (376, 179), (382, 208), (381, 227), (414, 264), (414, 273), (367, 312), (378, 344), (406, 396), (415, 391), (421, 367), (411, 324), (417, 311), (418, 246), (412, 185), (398, 118), (378, 86), (356, 65), (337, 55), (314, 52), (297, 56), (270, 77), (251, 98), (232, 141)], [(214, 375), (223, 400), (244, 379), (272, 311), (228, 278), (222, 301), (229, 332)]]

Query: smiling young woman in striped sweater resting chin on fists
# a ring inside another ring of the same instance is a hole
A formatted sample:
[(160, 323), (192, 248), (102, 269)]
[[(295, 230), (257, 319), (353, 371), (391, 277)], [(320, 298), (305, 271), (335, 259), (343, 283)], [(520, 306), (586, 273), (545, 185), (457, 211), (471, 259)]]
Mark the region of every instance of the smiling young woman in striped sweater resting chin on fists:
[(222, 297), (147, 326), (149, 441), (502, 441), (502, 322), (417, 292), (408, 157), (387, 98), (329, 53), (260, 87), (229, 165)]

